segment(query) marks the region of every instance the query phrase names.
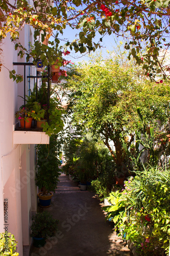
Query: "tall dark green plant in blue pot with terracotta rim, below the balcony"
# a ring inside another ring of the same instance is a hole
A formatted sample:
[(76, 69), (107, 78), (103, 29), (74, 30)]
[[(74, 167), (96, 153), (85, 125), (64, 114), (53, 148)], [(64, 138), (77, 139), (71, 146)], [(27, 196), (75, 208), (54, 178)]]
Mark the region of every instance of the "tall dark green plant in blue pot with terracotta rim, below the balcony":
[(55, 134), (51, 136), (48, 146), (45, 144), (37, 146), (36, 185), (41, 189), (38, 193), (41, 207), (51, 205), (52, 192), (57, 188), (61, 165), (57, 152), (58, 144)]

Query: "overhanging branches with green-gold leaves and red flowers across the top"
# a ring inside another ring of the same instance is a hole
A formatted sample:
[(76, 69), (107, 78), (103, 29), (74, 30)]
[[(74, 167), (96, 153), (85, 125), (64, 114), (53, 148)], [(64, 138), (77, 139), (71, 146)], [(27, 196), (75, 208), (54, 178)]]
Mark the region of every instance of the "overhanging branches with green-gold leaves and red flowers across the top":
[[(152, 78), (155, 72), (163, 72), (164, 78), (169, 75), (167, 63), (158, 57), (160, 50), (162, 55), (169, 50), (169, 0), (54, 0), (53, 3), (52, 6), (47, 0), (36, 0), (32, 5), (25, 0), (11, 3), (1, 1), (0, 40), (10, 33), (15, 49), (20, 48), (21, 57), (26, 53), (27, 60), (32, 56), (35, 62), (41, 58), (44, 65), (51, 65), (62, 55), (59, 34), (67, 25), (78, 29), (79, 38), (72, 42), (68, 40), (64, 52), (68, 48), (81, 53), (95, 51), (99, 47), (98, 43), (93, 42), (96, 31), (101, 34), (101, 41), (105, 34), (115, 33), (128, 39), (126, 49), (130, 49), (130, 54), (137, 63), (142, 64), (148, 76)], [(19, 31), (26, 24), (35, 29), (35, 49), (31, 52), (18, 42)], [(54, 40), (49, 43), (50, 47), (42, 45), (44, 37), (50, 38), (52, 34)], [(143, 48), (146, 50), (144, 53)]]

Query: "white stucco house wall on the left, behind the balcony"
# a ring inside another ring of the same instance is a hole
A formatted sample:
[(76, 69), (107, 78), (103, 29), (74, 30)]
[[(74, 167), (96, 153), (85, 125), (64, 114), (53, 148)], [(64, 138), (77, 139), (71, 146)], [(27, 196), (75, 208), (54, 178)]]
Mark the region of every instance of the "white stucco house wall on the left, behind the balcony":
[[(29, 28), (21, 32), (22, 44), (28, 47)], [(1, 61), (9, 70), (23, 74), (23, 67), (13, 66), (13, 62), (25, 62), (17, 57), (9, 36), (4, 40)], [(0, 232), (4, 232), (4, 199), (8, 199), (8, 232), (14, 234), (17, 252), (22, 256), (22, 245), (29, 245), (31, 220), (31, 184), (33, 210), (36, 211), (36, 187), (33, 170), (35, 172), (34, 146), (28, 144), (13, 144), (15, 111), (23, 104), (18, 95), (23, 96), (23, 82), (16, 84), (9, 78), (9, 71), (2, 67), (0, 72)], [(28, 68), (27, 68), (28, 75)], [(27, 79), (26, 79), (27, 80)], [(28, 91), (28, 83), (26, 90)], [(33, 152), (32, 152), (33, 151)], [(32, 159), (30, 158), (30, 155)], [(31, 166), (30, 166), (31, 163)]]

